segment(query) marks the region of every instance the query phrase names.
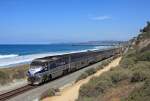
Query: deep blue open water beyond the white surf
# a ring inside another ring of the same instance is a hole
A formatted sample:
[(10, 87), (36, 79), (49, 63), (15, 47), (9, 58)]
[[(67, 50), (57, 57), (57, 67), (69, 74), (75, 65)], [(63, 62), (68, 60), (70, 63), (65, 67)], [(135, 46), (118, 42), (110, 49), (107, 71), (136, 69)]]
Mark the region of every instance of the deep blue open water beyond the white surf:
[(92, 49), (95, 46), (72, 46), (71, 44), (51, 45), (0, 45), (0, 55), (29, 55), (48, 52), (80, 51)]

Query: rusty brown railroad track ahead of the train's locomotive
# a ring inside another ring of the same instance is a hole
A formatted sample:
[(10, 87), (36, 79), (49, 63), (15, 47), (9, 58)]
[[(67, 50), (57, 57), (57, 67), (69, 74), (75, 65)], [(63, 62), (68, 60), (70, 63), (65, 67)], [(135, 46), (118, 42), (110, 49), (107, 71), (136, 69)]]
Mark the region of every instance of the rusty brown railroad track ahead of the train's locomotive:
[(0, 94), (0, 101), (6, 101), (12, 97), (15, 97), (19, 94), (22, 94), (28, 90), (31, 90), (35, 88), (35, 86), (31, 86), (31, 85), (25, 85), (23, 87), (20, 87), (20, 88), (17, 88), (15, 90), (12, 90), (12, 91), (9, 91), (9, 92), (6, 92), (6, 93), (3, 93), (3, 94)]

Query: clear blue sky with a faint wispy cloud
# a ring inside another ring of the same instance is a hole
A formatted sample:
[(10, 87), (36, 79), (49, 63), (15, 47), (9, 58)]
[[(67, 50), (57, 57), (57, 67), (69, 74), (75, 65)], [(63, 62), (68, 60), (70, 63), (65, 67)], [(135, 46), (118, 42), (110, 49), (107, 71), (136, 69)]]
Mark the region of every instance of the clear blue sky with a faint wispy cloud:
[(0, 44), (129, 40), (150, 0), (0, 0)]

